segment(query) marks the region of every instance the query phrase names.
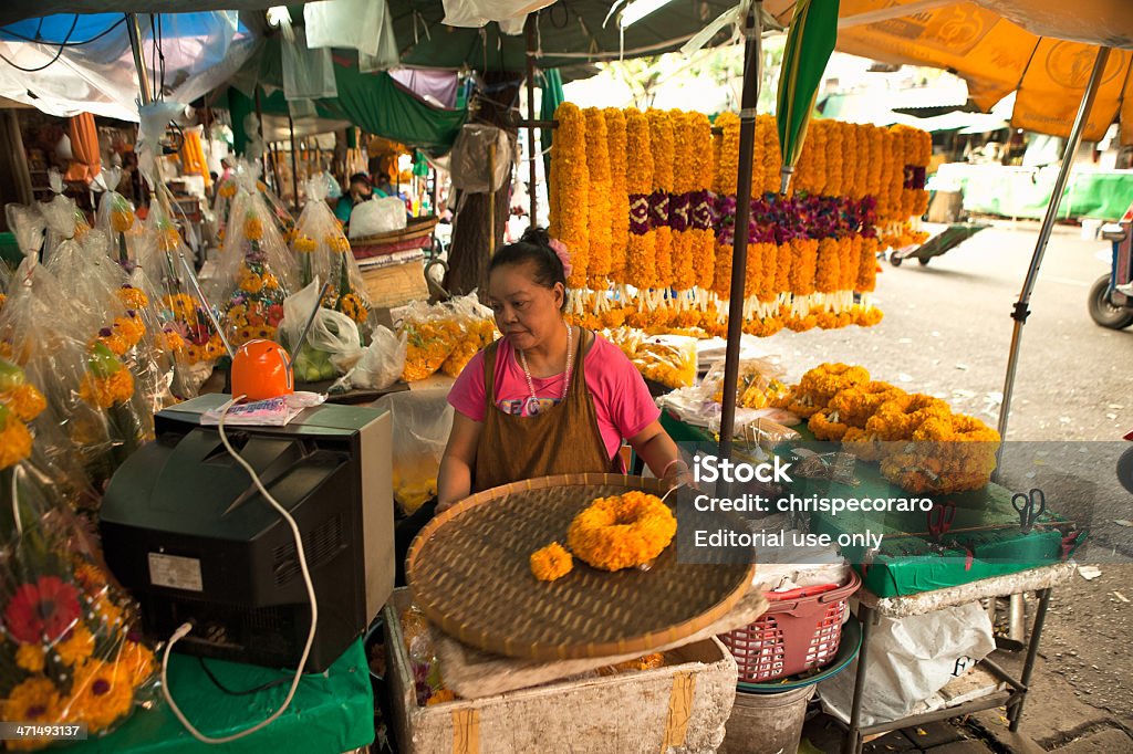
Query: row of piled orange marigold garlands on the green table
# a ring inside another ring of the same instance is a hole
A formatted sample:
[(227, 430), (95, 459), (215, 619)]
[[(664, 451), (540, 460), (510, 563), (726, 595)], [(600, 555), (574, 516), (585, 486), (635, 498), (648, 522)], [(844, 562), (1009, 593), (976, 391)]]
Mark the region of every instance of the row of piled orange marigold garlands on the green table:
[(871, 380), (862, 367), (820, 365), (777, 405), (809, 417), (817, 439), (880, 461), (885, 478), (911, 492), (979, 489), (995, 471), (996, 430), (937, 397)]

